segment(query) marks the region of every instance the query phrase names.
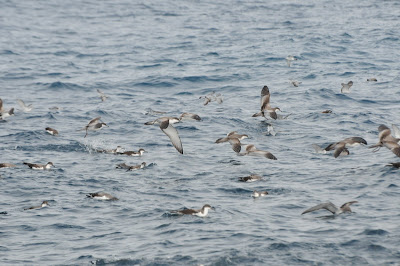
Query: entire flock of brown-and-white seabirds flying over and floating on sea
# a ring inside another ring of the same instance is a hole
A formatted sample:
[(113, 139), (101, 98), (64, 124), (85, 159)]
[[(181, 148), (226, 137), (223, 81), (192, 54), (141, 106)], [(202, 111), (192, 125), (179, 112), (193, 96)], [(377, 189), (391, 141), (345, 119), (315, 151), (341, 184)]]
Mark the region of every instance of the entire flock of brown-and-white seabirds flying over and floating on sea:
[[(292, 62), (297, 60), (296, 57), (294, 56), (287, 56), (286, 57), (286, 62), (288, 66), (290, 67)], [(369, 78), (367, 81), (377, 81), (376, 78)], [(295, 87), (298, 87), (301, 82), (298, 81), (291, 81), (292, 85)], [(349, 81), (348, 83), (342, 83), (342, 88), (341, 92), (342, 93), (350, 93), (350, 87), (353, 85), (352, 81)], [(105, 95), (101, 90), (97, 90), (99, 97), (101, 101), (105, 101), (108, 96)], [(223, 102), (222, 95), (220, 93), (215, 93), (212, 92), (208, 95), (201, 96), (199, 99), (204, 99), (204, 105), (207, 105), (211, 102), (217, 102), (218, 104), (221, 104)], [(268, 86), (264, 86), (261, 90), (261, 104), (260, 104), (260, 111), (258, 113), (255, 113), (253, 117), (264, 117), (266, 119), (285, 119), (287, 116), (281, 116), (277, 114), (277, 111), (281, 111), (279, 107), (271, 107), (270, 104), (270, 99), (271, 99), (271, 94), (269, 91)], [(30, 112), (33, 109), (33, 106), (26, 105), (24, 101), (18, 99), (17, 100), (18, 104), (20, 105), (21, 109), (24, 112)], [(58, 107), (53, 107), (52, 109), (59, 110)], [(331, 113), (331, 110), (325, 110), (322, 113)], [(148, 109), (146, 114), (149, 115), (162, 115), (165, 112), (160, 112), (160, 111), (154, 111), (151, 109)], [(10, 109), (4, 109), (3, 107), (3, 101), (0, 99), (0, 120), (5, 120), (6, 118), (14, 115), (14, 108)], [(157, 118), (153, 121), (146, 122), (145, 125), (159, 125), (161, 131), (168, 136), (170, 139), (172, 145), (175, 147), (175, 149), (183, 154), (183, 146), (181, 139), (179, 137), (178, 131), (176, 128), (173, 126), (175, 123), (180, 123), (182, 120), (196, 120), (196, 121), (201, 121), (200, 116), (197, 114), (193, 113), (182, 113), (179, 117), (160, 117)], [(96, 117), (93, 118), (92, 120), (89, 121), (89, 123), (80, 131), (85, 131), (85, 136), (86, 138), (88, 136), (89, 131), (95, 131), (99, 130), (103, 127), (108, 126), (106, 123), (104, 123), (101, 120), (101, 117)], [(267, 123), (267, 129), (268, 129), (268, 134), (275, 136), (276, 132), (274, 131), (273, 126), (270, 123)], [(385, 125), (380, 125), (378, 128), (379, 131), (379, 142), (377, 144), (374, 144), (370, 146), (370, 148), (373, 148), (374, 152), (377, 152), (381, 147), (386, 147), (389, 150), (391, 150), (397, 157), (400, 157), (400, 130), (397, 126), (392, 125), (393, 133), (394, 136), (392, 136), (392, 131)], [(57, 136), (59, 133), (57, 130), (46, 127), (46, 132), (53, 136)], [(253, 144), (242, 144), (241, 141), (244, 139), (249, 138), (248, 135), (246, 134), (239, 134), (237, 131), (230, 132), (226, 135), (226, 137), (219, 138), (215, 141), (215, 143), (225, 143), (228, 142), (232, 150), (240, 156), (259, 156), (259, 157), (264, 157), (267, 159), (271, 160), (277, 160), (277, 158), (269, 151), (263, 151), (257, 149)], [(329, 151), (334, 150), (333, 156), (335, 158), (339, 156), (346, 156), (349, 155), (349, 147), (357, 146), (357, 145), (367, 145), (367, 141), (361, 137), (349, 137), (344, 140), (340, 140), (338, 142), (334, 142), (329, 144), (326, 148), (321, 148), (317, 144), (313, 144), (313, 147), (316, 151), (316, 153), (321, 153), (321, 154), (326, 154)], [(242, 146), (244, 146), (244, 151), (242, 149)], [(243, 152), (242, 152), (243, 151)], [(145, 152), (144, 149), (140, 148), (138, 151), (125, 151), (121, 146), (117, 146), (115, 149), (111, 150), (104, 150), (104, 149), (96, 149), (96, 152), (99, 153), (108, 153), (108, 154), (118, 154), (118, 155), (126, 155), (126, 156), (142, 156), (143, 153)], [(27, 163), (23, 162), (23, 164), (27, 165), (29, 168), (34, 169), (34, 170), (49, 170), (51, 167), (54, 167), (54, 164), (52, 162), (48, 162), (47, 164), (34, 164), (34, 163)], [(390, 163), (388, 164), (389, 166), (395, 167), (395, 168), (400, 168), (400, 162), (396, 163)], [(11, 168), (11, 167), (16, 167), (15, 164), (11, 163), (0, 163), (0, 168)], [(133, 171), (133, 170), (139, 170), (143, 169), (146, 167), (146, 162), (142, 162), (141, 164), (138, 165), (127, 165), (125, 163), (118, 164), (116, 168), (118, 169), (126, 169), (127, 171)], [(259, 175), (250, 175), (250, 176), (245, 176), (245, 177), (240, 177), (238, 181), (241, 182), (255, 182), (262, 180), (262, 177)], [(267, 191), (256, 191), (254, 190), (252, 193), (252, 197), (254, 198), (259, 198), (259, 197), (264, 197), (267, 196), (268, 192)], [(87, 197), (93, 198), (93, 199), (100, 199), (100, 200), (118, 200), (118, 198), (112, 196), (109, 193), (106, 192), (96, 192), (96, 193), (89, 193), (87, 194)], [(311, 207), (307, 210), (305, 210), (302, 214), (306, 214), (309, 212), (325, 209), (330, 211), (334, 215), (338, 215), (344, 212), (351, 212), (350, 205), (357, 203), (357, 201), (350, 201), (345, 204), (343, 204), (340, 208), (335, 206), (331, 202), (326, 202), (326, 203), (321, 203), (318, 204), (314, 207)], [(33, 206), (29, 208), (25, 208), (24, 210), (32, 210), (32, 209), (40, 209), (43, 207), (49, 206), (48, 201), (43, 201), (41, 205), (39, 206)], [(178, 214), (178, 215), (195, 215), (199, 217), (205, 217), (208, 215), (208, 211), (214, 209), (211, 207), (209, 204), (205, 204), (201, 209), (195, 210), (195, 209), (183, 209), (183, 210), (174, 210), (170, 211), (171, 214)], [(0, 214), (7, 214), (7, 212), (0, 212)]]

